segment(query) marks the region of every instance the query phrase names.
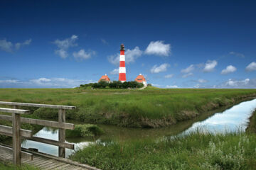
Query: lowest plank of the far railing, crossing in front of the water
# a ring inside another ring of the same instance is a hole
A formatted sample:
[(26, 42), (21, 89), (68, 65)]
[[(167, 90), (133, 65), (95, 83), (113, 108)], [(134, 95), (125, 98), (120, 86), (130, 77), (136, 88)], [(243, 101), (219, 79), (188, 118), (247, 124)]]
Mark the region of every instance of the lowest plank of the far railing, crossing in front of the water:
[(73, 144), (69, 144), (66, 142), (60, 142), (57, 140), (49, 140), (49, 139), (45, 139), (45, 138), (41, 138), (41, 137), (26, 137), (27, 140), (33, 140), (36, 142), (41, 142), (41, 143), (46, 143), (46, 144), (50, 144), (50, 145), (55, 145), (58, 147), (63, 147), (63, 148), (68, 148), (68, 149), (74, 149), (75, 145)]

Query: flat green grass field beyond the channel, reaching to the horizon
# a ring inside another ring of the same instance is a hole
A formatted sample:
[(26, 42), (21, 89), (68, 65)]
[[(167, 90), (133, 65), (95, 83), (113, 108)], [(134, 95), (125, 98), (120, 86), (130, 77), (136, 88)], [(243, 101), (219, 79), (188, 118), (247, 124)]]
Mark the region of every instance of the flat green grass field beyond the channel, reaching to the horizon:
[[(68, 118), (143, 128), (172, 125), (252, 96), (256, 89), (0, 89), (0, 101), (78, 106), (68, 111)], [(39, 117), (58, 115), (41, 113)]]

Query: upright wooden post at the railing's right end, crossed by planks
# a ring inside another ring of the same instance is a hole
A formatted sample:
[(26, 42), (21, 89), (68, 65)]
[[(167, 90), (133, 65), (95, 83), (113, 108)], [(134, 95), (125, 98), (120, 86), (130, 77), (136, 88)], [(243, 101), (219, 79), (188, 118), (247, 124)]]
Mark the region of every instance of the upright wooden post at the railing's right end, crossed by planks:
[[(58, 122), (65, 123), (65, 109), (60, 108), (58, 111)], [(60, 142), (65, 142), (65, 129), (59, 128), (58, 140)], [(65, 147), (59, 147), (58, 156), (65, 158)]]

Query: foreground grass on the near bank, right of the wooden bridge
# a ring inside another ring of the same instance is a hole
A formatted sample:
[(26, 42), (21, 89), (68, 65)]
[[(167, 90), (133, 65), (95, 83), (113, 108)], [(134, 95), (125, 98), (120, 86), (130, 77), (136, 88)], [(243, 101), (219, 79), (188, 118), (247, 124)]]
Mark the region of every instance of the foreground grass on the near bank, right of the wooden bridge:
[(97, 142), (70, 159), (100, 169), (256, 169), (256, 136), (194, 132), (159, 142)]

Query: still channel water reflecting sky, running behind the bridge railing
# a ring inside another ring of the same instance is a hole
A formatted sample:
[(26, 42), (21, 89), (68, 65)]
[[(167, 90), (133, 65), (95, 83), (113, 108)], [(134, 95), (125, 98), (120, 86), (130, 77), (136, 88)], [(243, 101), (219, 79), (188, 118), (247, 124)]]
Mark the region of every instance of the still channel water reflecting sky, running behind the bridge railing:
[[(252, 115), (252, 111), (256, 108), (256, 99), (252, 101), (245, 101), (238, 105), (228, 108), (225, 111), (218, 113), (207, 113), (194, 118), (193, 120), (184, 121), (172, 125), (168, 128), (157, 129), (137, 129), (137, 128), (120, 128), (112, 125), (100, 125), (105, 130), (105, 135), (100, 137), (76, 137), (67, 138), (66, 142), (75, 145), (75, 150), (86, 147), (92, 142), (97, 140), (141, 140), (145, 138), (159, 139), (161, 137), (168, 137), (178, 134), (184, 134), (193, 132), (194, 130), (201, 128), (210, 132), (232, 132), (236, 130), (245, 130), (247, 127), (248, 118)], [(53, 128), (43, 128), (37, 132), (34, 136), (44, 137), (51, 140), (58, 140), (58, 130)], [(31, 140), (24, 140), (21, 144), (25, 148), (37, 148), (39, 152), (53, 154), (58, 156), (58, 147), (53, 145), (47, 145), (40, 142), (34, 142)], [(66, 149), (66, 157), (75, 152), (72, 149)]]

